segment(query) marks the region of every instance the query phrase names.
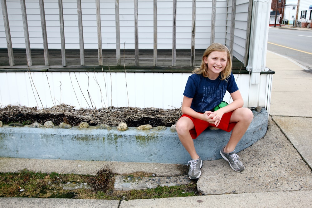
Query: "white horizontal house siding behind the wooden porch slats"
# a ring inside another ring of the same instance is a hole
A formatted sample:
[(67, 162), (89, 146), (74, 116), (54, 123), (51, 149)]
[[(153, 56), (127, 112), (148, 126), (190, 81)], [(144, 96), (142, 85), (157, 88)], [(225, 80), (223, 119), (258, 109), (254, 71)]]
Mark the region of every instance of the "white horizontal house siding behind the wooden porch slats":
[[(1, 0), (0, 0), (1, 1)], [(215, 42), (226, 43), (227, 1), (218, 0), (216, 10)], [(173, 3), (158, 0), (158, 48), (172, 48), (172, 18)], [(196, 1), (196, 49), (204, 49), (210, 44), (212, 1)], [(0, 5), (1, 7), (1, 5)], [(45, 0), (45, 18), (49, 49), (61, 48), (60, 21), (57, 0)], [(83, 35), (85, 49), (97, 49), (97, 28), (95, 0), (81, 0)], [(153, 48), (153, 0), (139, 0), (139, 48)], [(236, 17), (237, 33), (246, 31), (248, 1), (238, 1)], [(25, 48), (21, 3), (19, 0), (7, 0), (8, 19), (13, 48)], [(2, 13), (2, 9), (0, 9)], [(115, 34), (115, 1), (100, 1), (102, 48), (116, 48)], [(26, 13), (29, 27), (31, 48), (43, 48), (40, 11), (38, 0), (26, 0)], [(65, 47), (79, 48), (77, 1), (63, 0)], [(134, 48), (134, 2), (133, 0), (119, 0), (120, 19), (120, 48)], [(177, 1), (177, 49), (191, 48), (192, 0)], [(229, 17), (228, 17), (229, 18)], [(239, 60), (244, 56), (244, 35), (237, 34), (234, 51)], [(241, 40), (242, 39), (242, 40)], [(4, 32), (3, 16), (0, 15), (0, 48), (7, 48)]]

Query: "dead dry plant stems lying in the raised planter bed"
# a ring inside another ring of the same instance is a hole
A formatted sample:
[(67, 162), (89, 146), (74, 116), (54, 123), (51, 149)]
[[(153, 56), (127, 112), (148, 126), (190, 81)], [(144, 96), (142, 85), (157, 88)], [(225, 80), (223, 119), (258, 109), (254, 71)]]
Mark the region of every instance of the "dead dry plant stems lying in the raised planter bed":
[(3, 108), (0, 108), (0, 120), (2, 120), (3, 123), (20, 121), (22, 117), (25, 117), (24, 120), (27, 120), (27, 116), (36, 117), (42, 114), (54, 116), (61, 115), (64, 117), (76, 119), (79, 121), (79, 123), (82, 121), (87, 121), (91, 124), (107, 124), (109, 126), (117, 126), (120, 122), (139, 121), (143, 118), (160, 119), (161, 122), (165, 125), (172, 125), (180, 118), (182, 112), (181, 109), (164, 110), (158, 108), (141, 109), (134, 107), (75, 109), (73, 106), (66, 104), (61, 104), (45, 109), (19, 105), (7, 105)]

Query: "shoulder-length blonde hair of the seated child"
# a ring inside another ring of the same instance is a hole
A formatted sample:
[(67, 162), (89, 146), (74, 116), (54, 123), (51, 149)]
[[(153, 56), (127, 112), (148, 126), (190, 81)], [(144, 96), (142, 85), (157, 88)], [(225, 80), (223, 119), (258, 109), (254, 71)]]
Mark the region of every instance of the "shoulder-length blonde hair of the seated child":
[(222, 45), (221, 43), (212, 43), (204, 52), (202, 55), (202, 64), (199, 68), (195, 68), (193, 70), (193, 74), (202, 75), (203, 77), (209, 77), (209, 73), (207, 71), (207, 64), (204, 61), (204, 58), (209, 56), (210, 53), (213, 51), (220, 51), (220, 52), (227, 52), (227, 65), (225, 66), (225, 69), (221, 72), (221, 80), (227, 79), (232, 72), (232, 59), (230, 56), (229, 49)]

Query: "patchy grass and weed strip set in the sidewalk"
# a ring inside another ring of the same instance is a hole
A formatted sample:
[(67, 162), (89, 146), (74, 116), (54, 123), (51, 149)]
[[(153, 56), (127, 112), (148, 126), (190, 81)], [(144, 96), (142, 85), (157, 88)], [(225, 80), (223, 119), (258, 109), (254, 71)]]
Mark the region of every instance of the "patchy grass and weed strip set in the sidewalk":
[[(136, 174), (148, 177), (149, 174)], [(108, 169), (100, 170), (96, 176), (76, 174), (51, 174), (22, 170), (17, 173), (0, 173), (0, 197), (39, 197), (132, 200), (201, 195), (196, 182), (180, 186), (158, 186), (155, 189), (115, 191), (115, 175)], [(90, 189), (65, 190), (65, 184), (87, 184)]]

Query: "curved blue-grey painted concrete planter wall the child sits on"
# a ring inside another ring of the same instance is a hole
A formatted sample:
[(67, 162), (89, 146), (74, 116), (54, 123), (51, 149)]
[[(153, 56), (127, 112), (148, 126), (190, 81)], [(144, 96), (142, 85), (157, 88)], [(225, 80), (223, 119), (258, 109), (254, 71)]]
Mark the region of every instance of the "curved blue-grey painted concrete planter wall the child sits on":
[[(236, 152), (249, 147), (266, 133), (266, 109), (253, 113), (254, 119)], [(203, 160), (221, 158), (219, 151), (230, 135), (222, 130), (206, 130), (194, 141), (198, 154)], [(118, 131), (116, 128), (18, 128), (7, 125), (0, 127), (0, 157), (175, 164), (184, 164), (190, 159), (176, 131), (170, 128)]]

